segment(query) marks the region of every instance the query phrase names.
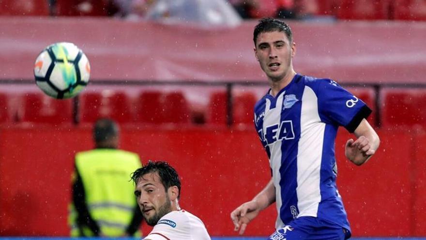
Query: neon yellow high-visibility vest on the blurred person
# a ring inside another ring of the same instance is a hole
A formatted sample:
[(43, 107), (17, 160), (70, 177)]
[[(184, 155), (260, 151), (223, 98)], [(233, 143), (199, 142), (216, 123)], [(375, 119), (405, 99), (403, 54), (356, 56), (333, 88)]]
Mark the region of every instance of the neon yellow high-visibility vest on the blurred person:
[[(76, 168), (81, 176), (86, 204), (91, 217), (106, 236), (122, 236), (137, 206), (135, 186), (130, 176), (142, 165), (139, 156), (118, 149), (94, 149), (76, 154)], [(70, 206), (71, 236), (79, 236), (76, 211)], [(83, 228), (85, 236), (94, 234)], [(134, 235), (139, 237), (139, 231)]]

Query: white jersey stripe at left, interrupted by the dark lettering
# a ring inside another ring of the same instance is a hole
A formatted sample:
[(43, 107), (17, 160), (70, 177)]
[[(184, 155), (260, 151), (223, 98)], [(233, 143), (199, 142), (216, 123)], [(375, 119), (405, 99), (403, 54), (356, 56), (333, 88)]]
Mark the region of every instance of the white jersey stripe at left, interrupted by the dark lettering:
[[(279, 126), (281, 122), (281, 108), (283, 106), (283, 99), (286, 91), (283, 91), (277, 98), (275, 108), (271, 109), (271, 101), (266, 98), (266, 106), (265, 106), (265, 117), (263, 118), (263, 132), (266, 132), (266, 128), (269, 126), (277, 125)], [(281, 174), (279, 173), (281, 166), (281, 144), (270, 144), (269, 150), (271, 152), (271, 156), (274, 156), (274, 162), (269, 160), (269, 164), (271, 169), (273, 169), (273, 181), (275, 186), (275, 198), (276, 198), (276, 210), (280, 212), (280, 208), (282, 206), (281, 199), (281, 186), (279, 184), (281, 180)], [(284, 226), (283, 221), (281, 220), (279, 214), (276, 218), (275, 228), (282, 228)]]

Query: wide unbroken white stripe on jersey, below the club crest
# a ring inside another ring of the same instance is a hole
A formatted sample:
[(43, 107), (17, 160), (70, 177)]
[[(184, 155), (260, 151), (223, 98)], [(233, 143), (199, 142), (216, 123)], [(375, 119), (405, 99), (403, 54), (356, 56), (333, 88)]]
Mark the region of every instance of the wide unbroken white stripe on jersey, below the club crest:
[(298, 217), (317, 217), (321, 201), (320, 170), (325, 123), (321, 123), (317, 102), (314, 91), (305, 86), (300, 120), (301, 136), (297, 154)]

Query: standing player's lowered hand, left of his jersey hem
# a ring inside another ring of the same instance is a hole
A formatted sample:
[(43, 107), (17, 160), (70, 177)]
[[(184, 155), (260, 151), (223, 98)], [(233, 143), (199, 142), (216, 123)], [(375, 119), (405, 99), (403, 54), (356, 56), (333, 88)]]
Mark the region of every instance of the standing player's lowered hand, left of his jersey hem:
[(243, 203), (240, 207), (231, 212), (231, 220), (234, 223), (234, 231), (240, 230), (239, 234), (242, 235), (247, 227), (260, 211), (259, 204), (256, 201)]

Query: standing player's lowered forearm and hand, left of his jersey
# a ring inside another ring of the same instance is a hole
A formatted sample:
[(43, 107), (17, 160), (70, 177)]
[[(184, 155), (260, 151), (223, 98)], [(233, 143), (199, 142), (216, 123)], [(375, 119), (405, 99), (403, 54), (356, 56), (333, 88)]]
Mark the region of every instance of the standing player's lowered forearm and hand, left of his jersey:
[(271, 179), (269, 183), (251, 201), (243, 203), (231, 212), (234, 231), (240, 230), (242, 235), (247, 224), (256, 218), (259, 212), (275, 202), (275, 186)]

